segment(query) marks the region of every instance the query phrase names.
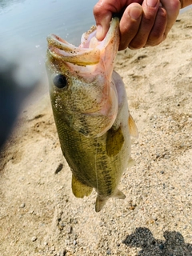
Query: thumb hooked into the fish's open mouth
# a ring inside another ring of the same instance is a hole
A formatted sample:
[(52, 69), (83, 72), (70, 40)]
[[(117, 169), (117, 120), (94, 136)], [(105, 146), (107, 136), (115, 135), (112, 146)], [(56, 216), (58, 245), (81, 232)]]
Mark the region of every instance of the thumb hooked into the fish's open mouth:
[(94, 18), (97, 25), (96, 37), (98, 40), (105, 38), (109, 30), (110, 20), (113, 14), (122, 14), (131, 2), (142, 3), (143, 0), (99, 0), (94, 6)]

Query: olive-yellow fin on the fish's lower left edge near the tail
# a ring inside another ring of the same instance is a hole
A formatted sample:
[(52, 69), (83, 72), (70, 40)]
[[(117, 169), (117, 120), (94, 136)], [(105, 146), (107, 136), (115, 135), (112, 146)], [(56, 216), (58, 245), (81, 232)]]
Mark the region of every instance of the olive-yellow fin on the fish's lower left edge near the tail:
[(77, 178), (72, 175), (72, 191), (76, 198), (88, 197), (92, 190), (92, 187), (82, 184), (82, 182), (79, 182)]

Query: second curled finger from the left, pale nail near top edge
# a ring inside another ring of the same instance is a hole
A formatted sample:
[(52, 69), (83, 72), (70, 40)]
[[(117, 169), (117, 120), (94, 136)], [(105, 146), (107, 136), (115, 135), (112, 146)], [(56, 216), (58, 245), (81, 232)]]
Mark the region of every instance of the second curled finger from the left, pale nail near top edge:
[(130, 42), (130, 48), (139, 49), (146, 45), (158, 12), (159, 0), (144, 0), (142, 4), (142, 21), (135, 38)]

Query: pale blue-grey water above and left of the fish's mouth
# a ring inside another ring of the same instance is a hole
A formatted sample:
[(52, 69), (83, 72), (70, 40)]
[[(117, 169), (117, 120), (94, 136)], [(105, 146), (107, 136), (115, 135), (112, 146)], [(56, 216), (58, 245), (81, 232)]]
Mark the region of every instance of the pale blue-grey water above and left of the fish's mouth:
[(58, 34), (78, 46), (82, 33), (95, 23), (96, 2), (0, 0), (0, 56), (19, 63), (26, 78), (30, 71), (36, 78), (46, 76), (46, 36)]

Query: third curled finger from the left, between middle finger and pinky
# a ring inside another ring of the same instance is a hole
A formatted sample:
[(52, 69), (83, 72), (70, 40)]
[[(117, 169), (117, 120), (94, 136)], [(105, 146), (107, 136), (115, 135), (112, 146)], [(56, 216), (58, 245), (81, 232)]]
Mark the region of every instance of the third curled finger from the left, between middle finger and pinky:
[(166, 10), (162, 7), (158, 8), (158, 13), (154, 22), (154, 26), (150, 31), (146, 46), (157, 46), (165, 39), (164, 33), (166, 30), (167, 15)]

